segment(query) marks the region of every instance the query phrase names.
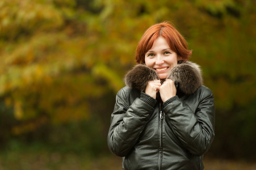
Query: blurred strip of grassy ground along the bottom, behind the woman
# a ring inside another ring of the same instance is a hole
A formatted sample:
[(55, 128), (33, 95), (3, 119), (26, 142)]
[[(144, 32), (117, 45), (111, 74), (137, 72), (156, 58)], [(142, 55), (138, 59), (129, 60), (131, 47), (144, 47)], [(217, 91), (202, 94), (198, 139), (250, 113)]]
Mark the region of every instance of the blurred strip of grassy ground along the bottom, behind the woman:
[[(256, 169), (256, 163), (242, 160), (204, 159), (206, 170)], [(86, 154), (40, 151), (2, 151), (0, 153), (1, 170), (117, 170), (121, 169), (121, 158), (114, 155), (92, 158)]]

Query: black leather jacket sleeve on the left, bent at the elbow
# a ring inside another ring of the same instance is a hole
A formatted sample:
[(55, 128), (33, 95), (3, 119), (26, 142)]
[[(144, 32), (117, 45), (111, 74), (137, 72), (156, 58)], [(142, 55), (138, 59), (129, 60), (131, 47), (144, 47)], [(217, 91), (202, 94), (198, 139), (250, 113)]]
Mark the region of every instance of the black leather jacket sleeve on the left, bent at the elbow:
[(111, 152), (117, 156), (129, 153), (154, 111), (157, 101), (142, 92), (141, 94), (131, 105), (129, 94), (125, 94), (125, 90), (121, 89), (116, 95), (107, 142)]

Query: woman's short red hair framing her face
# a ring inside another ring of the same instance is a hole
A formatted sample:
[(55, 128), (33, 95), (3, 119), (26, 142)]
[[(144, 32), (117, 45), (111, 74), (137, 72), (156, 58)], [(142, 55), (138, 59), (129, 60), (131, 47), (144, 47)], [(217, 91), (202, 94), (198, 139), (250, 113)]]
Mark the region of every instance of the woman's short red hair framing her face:
[(154, 24), (149, 27), (141, 37), (136, 49), (136, 62), (145, 63), (145, 54), (153, 46), (154, 41), (158, 37), (164, 37), (169, 44), (171, 50), (177, 53), (177, 56), (182, 57), (186, 61), (192, 54), (192, 50), (188, 50), (187, 41), (169, 22)]

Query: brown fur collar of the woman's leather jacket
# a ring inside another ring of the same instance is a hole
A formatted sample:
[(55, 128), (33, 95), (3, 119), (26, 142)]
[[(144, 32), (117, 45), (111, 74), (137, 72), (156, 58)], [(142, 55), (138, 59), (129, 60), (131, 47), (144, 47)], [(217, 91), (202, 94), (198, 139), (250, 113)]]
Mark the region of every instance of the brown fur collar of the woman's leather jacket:
[[(190, 61), (184, 61), (174, 66), (168, 76), (177, 87), (177, 93), (193, 94), (199, 86), (203, 84), (203, 78), (200, 66)], [(145, 91), (146, 85), (150, 80), (159, 79), (156, 71), (146, 65), (136, 65), (125, 75), (124, 82), (126, 86)]]

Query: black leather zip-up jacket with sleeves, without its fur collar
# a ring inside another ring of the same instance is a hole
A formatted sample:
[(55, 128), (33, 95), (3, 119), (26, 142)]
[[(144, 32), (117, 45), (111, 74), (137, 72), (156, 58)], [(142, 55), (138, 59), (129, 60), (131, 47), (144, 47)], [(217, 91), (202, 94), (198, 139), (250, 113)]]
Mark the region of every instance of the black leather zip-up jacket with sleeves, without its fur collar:
[(123, 169), (204, 169), (203, 154), (214, 138), (211, 90), (199, 86), (161, 104), (124, 87), (116, 95), (108, 147), (123, 157)]

